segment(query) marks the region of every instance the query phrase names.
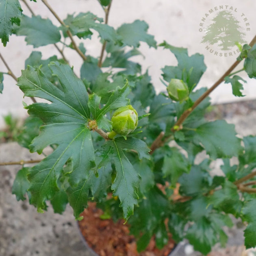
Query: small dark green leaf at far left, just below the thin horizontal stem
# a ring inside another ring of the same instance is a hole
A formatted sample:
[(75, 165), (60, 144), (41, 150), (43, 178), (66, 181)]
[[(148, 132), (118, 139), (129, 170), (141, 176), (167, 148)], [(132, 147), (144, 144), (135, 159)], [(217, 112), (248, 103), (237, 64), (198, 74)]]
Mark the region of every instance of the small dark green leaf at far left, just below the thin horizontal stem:
[(20, 171), (17, 172), (15, 180), (13, 182), (12, 194), (16, 195), (16, 199), (26, 200), (24, 195), (27, 193), (30, 182), (28, 181), (27, 174), (30, 170), (30, 167), (23, 167)]

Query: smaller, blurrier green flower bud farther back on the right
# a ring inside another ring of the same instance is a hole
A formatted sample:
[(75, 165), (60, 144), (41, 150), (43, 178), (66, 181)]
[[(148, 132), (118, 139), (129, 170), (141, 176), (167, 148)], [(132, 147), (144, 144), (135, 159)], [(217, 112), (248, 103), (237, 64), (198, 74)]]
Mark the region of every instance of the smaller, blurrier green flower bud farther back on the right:
[(182, 102), (189, 97), (189, 87), (180, 79), (171, 79), (167, 91), (169, 97), (175, 101)]

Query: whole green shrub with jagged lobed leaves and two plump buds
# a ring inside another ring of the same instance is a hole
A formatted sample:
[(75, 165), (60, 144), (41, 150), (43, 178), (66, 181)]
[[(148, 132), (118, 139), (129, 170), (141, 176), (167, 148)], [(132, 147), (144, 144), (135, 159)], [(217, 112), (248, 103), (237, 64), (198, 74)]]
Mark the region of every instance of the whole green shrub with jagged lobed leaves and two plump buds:
[[(139, 252), (152, 237), (158, 248), (164, 247), (171, 233), (176, 243), (186, 238), (195, 250), (207, 254), (217, 242), (225, 245), (223, 226), (232, 225), (231, 214), (247, 223), (245, 246), (254, 247), (256, 137), (239, 138), (234, 125), (208, 121), (204, 115), (210, 106), (208, 96), (221, 82), (230, 83), (239, 97), (243, 79), (236, 73), (256, 77), (256, 37), (243, 46), (237, 44), (241, 54), (212, 87), (197, 89), (206, 70), (204, 57), (189, 56), (187, 49), (165, 41), (157, 44), (140, 20), (117, 29), (109, 26), (111, 0), (98, 1), (106, 13), (104, 20), (91, 12), (61, 20), (46, 0), (41, 1), (59, 27), (36, 16), (25, 0), (31, 17), (22, 13), (18, 0), (0, 0), (4, 46), (15, 33), (26, 36), (34, 47), (55, 44), (62, 55), (42, 59), (40, 52), (33, 51), (19, 78), (0, 55), (7, 67), (0, 73), (1, 93), (3, 78), (10, 75), (34, 102), (24, 105), (30, 117), (19, 143), (38, 154), (51, 148), (33, 167), (20, 162), (23, 167), (13, 184), (17, 199), (25, 200), (27, 194), (39, 213), (49, 202), (56, 213), (69, 203), (78, 220), (88, 202), (95, 202), (102, 209), (101, 219), (121, 218), (128, 223)], [(82, 43), (95, 31), (102, 43), (99, 58), (86, 54)], [(143, 74), (141, 65), (129, 60), (140, 54), (140, 41), (165, 48), (178, 61), (176, 67), (162, 69), (167, 88), (160, 94), (148, 72)], [(82, 58), (80, 74), (74, 74), (60, 43)], [(233, 72), (242, 61), (243, 69)], [(207, 157), (195, 164), (202, 151)], [(232, 157), (237, 164), (232, 165)], [(216, 159), (223, 161), (223, 176), (210, 175), (210, 163)]]

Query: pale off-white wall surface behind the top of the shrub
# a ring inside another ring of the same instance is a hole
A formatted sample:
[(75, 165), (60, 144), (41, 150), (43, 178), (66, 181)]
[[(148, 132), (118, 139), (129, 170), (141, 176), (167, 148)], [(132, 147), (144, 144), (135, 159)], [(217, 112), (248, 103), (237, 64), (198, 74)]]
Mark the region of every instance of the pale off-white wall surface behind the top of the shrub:
[[(40, 0), (37, 0), (37, 3), (28, 0), (27, 2), (36, 14), (40, 14), (42, 17), (50, 17), (52, 22), (59, 26), (57, 20), (49, 13)], [(67, 13), (87, 11), (91, 11), (99, 17), (104, 17), (104, 12), (97, 0), (48, 0), (48, 2), (62, 19), (66, 17)], [(228, 10), (232, 7), (232, 12), (236, 14), (243, 29), (245, 29), (243, 18), (247, 18), (250, 31), (246, 32), (246, 40), (249, 42), (254, 36), (254, 31), (256, 31), (256, 1), (254, 0), (245, 0), (243, 2), (240, 0), (215, 0), (214, 3), (210, 0), (113, 0), (109, 24), (117, 28), (122, 23), (130, 23), (136, 19), (145, 20), (150, 26), (148, 32), (155, 35), (158, 43), (166, 40), (174, 46), (188, 48), (190, 55), (196, 52), (204, 54), (207, 70), (200, 80), (199, 87), (210, 87), (238, 56), (238, 54), (227, 57), (216, 56), (210, 53), (209, 50), (206, 50), (206, 44), (201, 43), (203, 36), (199, 32), (201, 20), (205, 17), (205, 13), (210, 14), (209, 11), (211, 9), (216, 13), (214, 8), (218, 9), (219, 5), (224, 5), (224, 8), (228, 8)], [(22, 8), (25, 14), (30, 15), (23, 2)], [(215, 13), (210, 14), (208, 22), (214, 17)], [(244, 16), (240, 17), (242, 13)], [(206, 23), (207, 20), (204, 26), (206, 26)], [(100, 43), (97, 37), (98, 35), (95, 33), (91, 41), (89, 39), (84, 40), (87, 54), (95, 57), (100, 54)], [(20, 76), (20, 70), (24, 69), (24, 60), (28, 58), (32, 50), (42, 51), (43, 59), (54, 54), (58, 55), (54, 46), (33, 49), (33, 46), (26, 46), (23, 37), (16, 37), (15, 35), (11, 36), (7, 47), (0, 46), (1, 54), (8, 61), (16, 76)], [(145, 59), (143, 57), (136, 57), (136, 60), (143, 63), (144, 71), (149, 69), (149, 74), (152, 76), (152, 82), (156, 90), (163, 90), (165, 87), (163, 87), (159, 80), (161, 77), (160, 69), (165, 65), (176, 65), (174, 55), (168, 50), (161, 48), (158, 50), (149, 49), (145, 43), (141, 43), (141, 52), (144, 54)], [(70, 64), (74, 65), (75, 72), (79, 74), (82, 64), (81, 58), (76, 52), (68, 49), (65, 51), (65, 55), (70, 60)], [(242, 65), (238, 68), (241, 67)], [(1, 61), (0, 71), (6, 71)], [(243, 77), (246, 78), (245, 74)], [(247, 85), (244, 87), (246, 97), (242, 99), (256, 98), (256, 82), (249, 78), (246, 78), (246, 80)], [(230, 84), (221, 85), (212, 94), (213, 102), (221, 103), (237, 100), (238, 98), (234, 97), (231, 92)], [(26, 111), (22, 108), (22, 97), (22, 92), (15, 86), (15, 81), (5, 75), (4, 93), (0, 95), (0, 126), (3, 125), (2, 115), (10, 112), (14, 115), (26, 115)], [(25, 101), (27, 103), (31, 102), (30, 99), (25, 99)]]

